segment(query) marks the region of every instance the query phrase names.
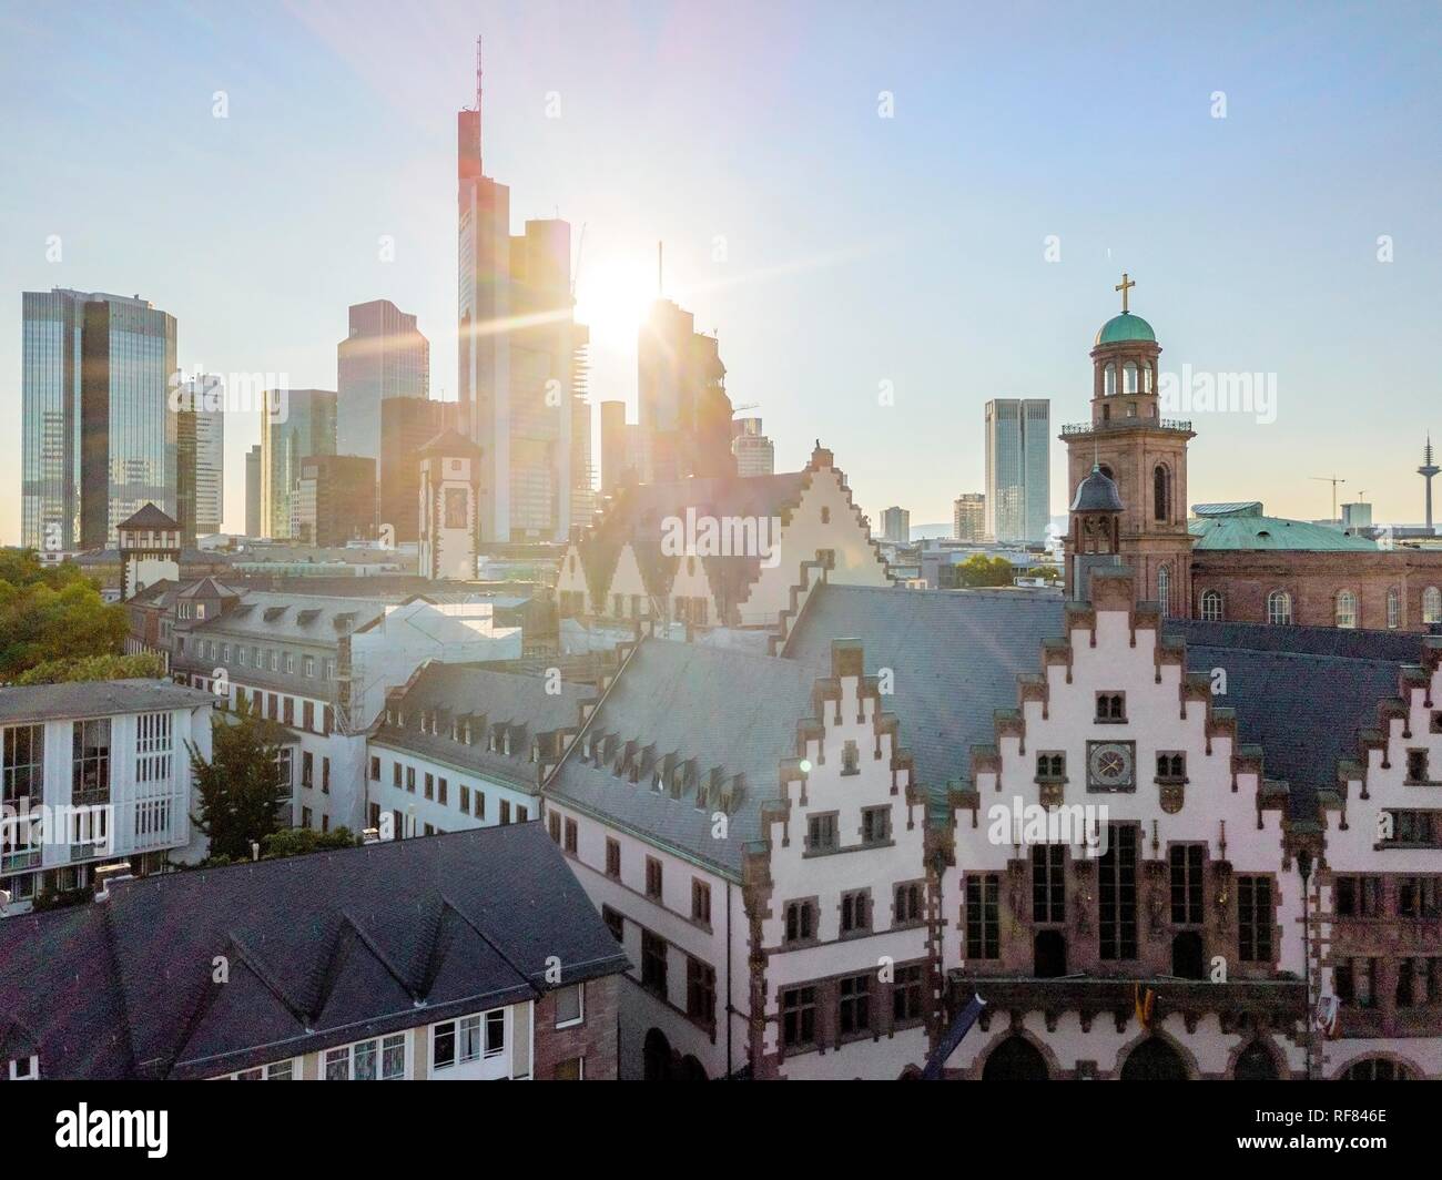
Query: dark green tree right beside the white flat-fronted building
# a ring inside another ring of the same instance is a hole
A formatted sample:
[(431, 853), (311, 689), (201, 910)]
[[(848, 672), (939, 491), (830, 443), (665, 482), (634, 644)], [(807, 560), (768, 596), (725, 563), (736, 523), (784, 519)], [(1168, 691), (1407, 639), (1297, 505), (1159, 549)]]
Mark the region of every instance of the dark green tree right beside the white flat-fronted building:
[(200, 808), (190, 818), (211, 838), (213, 860), (249, 860), (252, 842), (280, 831), (278, 808), (290, 795), (281, 785), (277, 733), (275, 723), (254, 710), (216, 713), (211, 760), (186, 743)]

